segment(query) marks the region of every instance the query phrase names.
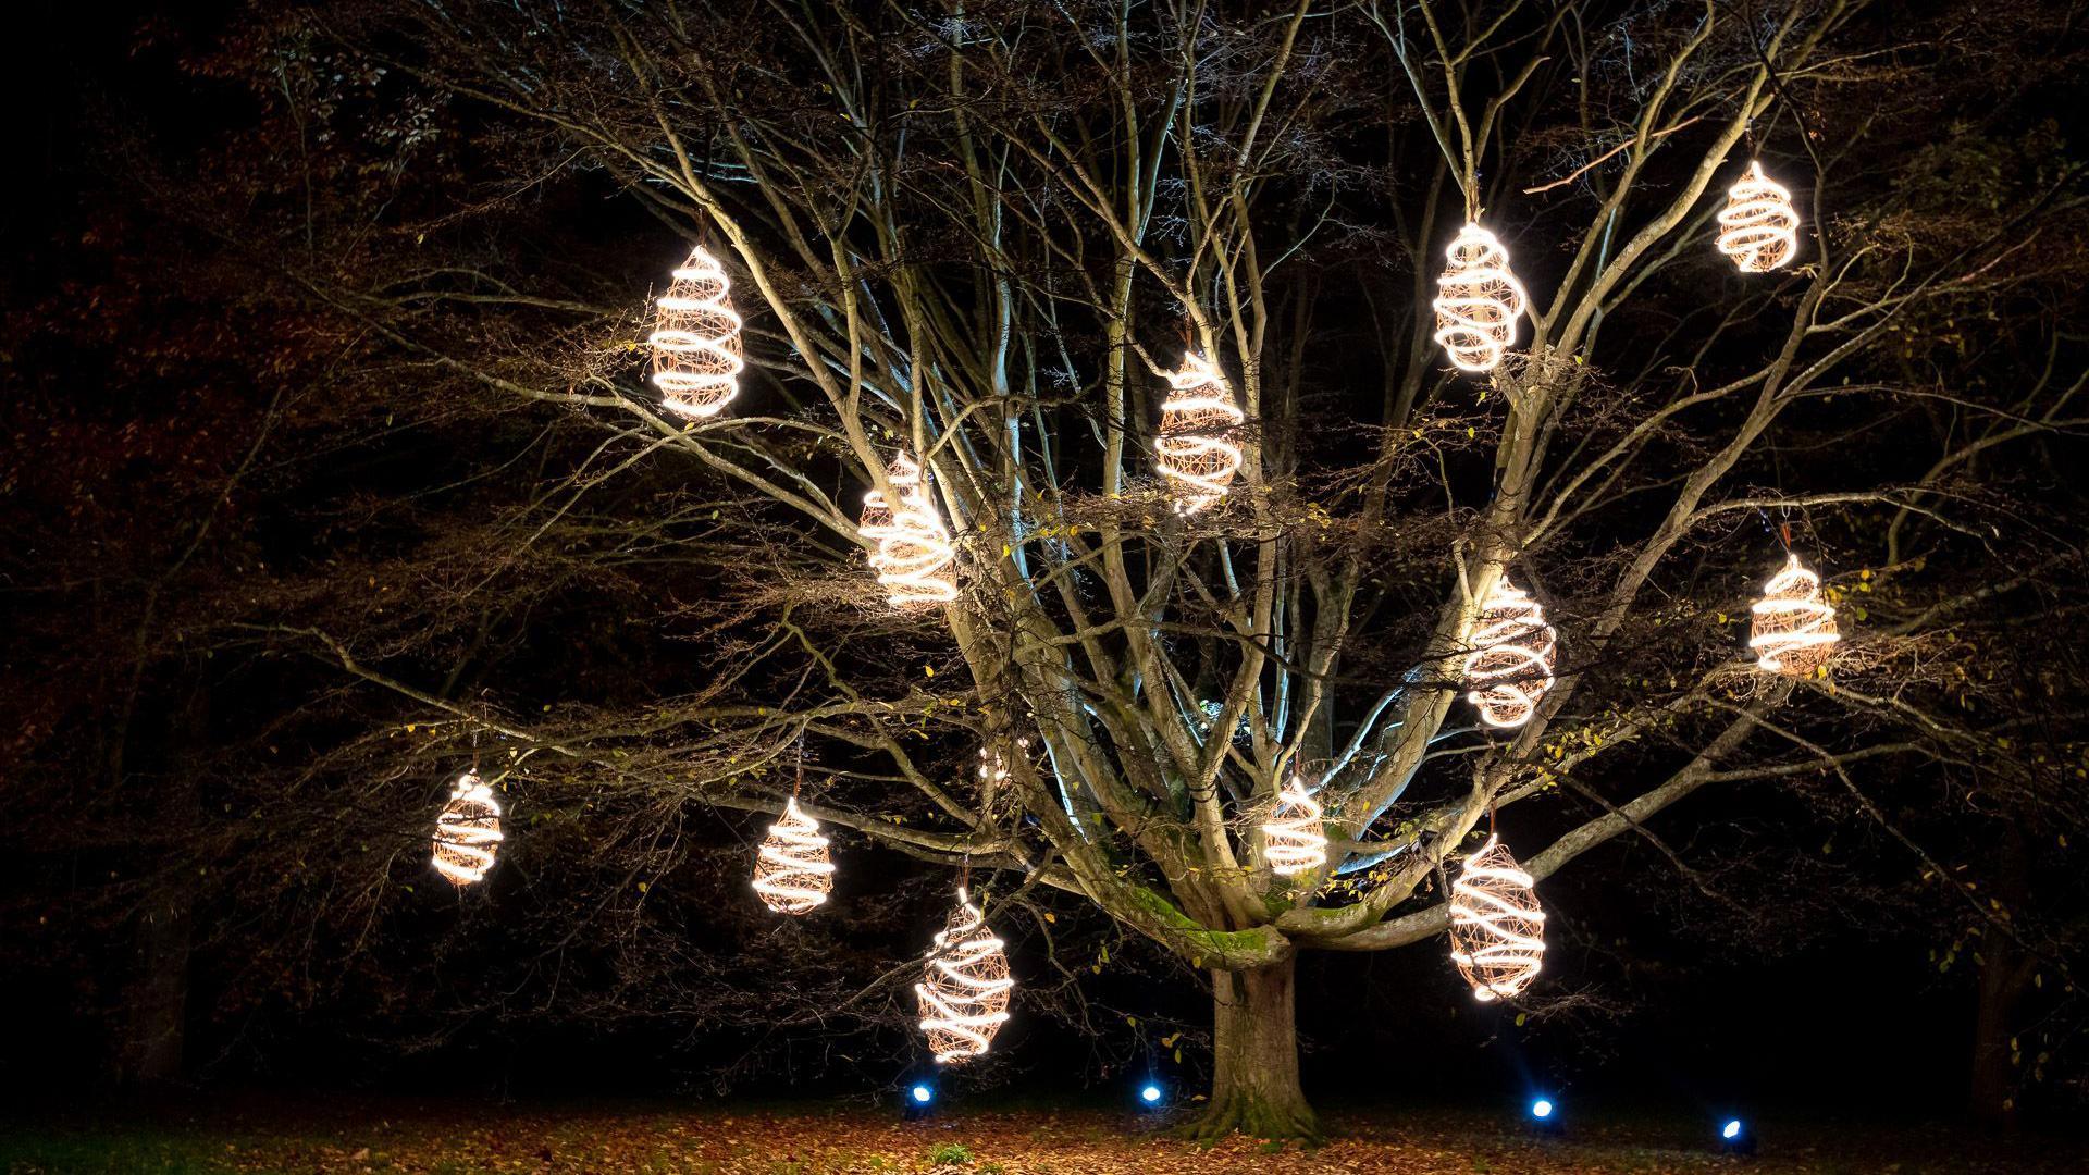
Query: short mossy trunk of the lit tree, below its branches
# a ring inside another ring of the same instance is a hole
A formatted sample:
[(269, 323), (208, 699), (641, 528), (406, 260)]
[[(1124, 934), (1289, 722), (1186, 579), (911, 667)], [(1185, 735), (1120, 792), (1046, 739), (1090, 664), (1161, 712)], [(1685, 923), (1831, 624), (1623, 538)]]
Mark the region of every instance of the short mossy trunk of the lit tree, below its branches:
[(1287, 958), (1258, 970), (1212, 972), (1212, 1104), (1189, 1127), (1191, 1137), (1320, 1135), (1299, 1089), (1295, 968), (1297, 960)]

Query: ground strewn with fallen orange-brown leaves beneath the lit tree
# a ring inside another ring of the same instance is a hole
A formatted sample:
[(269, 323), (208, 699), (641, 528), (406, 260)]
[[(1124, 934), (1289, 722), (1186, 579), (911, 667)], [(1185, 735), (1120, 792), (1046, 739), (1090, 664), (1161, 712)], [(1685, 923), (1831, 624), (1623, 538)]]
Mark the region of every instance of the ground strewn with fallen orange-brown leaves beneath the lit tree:
[(213, 1104), (23, 1114), (0, 1125), (0, 1171), (31, 1173), (934, 1173), (1581, 1175), (2062, 1173), (2081, 1139), (1987, 1139), (1945, 1125), (1765, 1123), (1761, 1154), (1713, 1154), (1709, 1123), (1634, 1116), (1540, 1137), (1504, 1116), (1347, 1110), (1318, 1148), (1170, 1133), (1166, 1116), (1103, 1110), (950, 1110), (902, 1123), (863, 1108), (493, 1108), (437, 1102)]

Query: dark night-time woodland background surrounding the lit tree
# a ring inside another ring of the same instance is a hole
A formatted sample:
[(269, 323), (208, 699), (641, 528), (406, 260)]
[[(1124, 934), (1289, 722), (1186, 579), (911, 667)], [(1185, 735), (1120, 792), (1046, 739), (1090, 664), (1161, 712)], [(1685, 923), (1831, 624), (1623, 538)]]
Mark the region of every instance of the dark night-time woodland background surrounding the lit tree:
[[(2083, 159), (2081, 15), (1982, 13), (2008, 44), (1928, 102), (1941, 146), (1876, 161), (1939, 207), (1972, 201), (1964, 215), (2049, 192)], [(424, 859), (457, 763), (391, 767), (397, 740), (428, 736), (424, 713), (276, 631), (355, 633), (443, 696), (547, 713), (643, 707), (704, 675), (660, 577), (702, 596), (721, 571), (620, 567), (579, 542), (506, 556), (589, 460), (585, 427), (380, 355), (305, 282), (322, 257), (361, 263), (357, 234), (412, 236), (637, 307), (679, 238), (602, 174), (506, 188), (489, 161), (531, 151), (510, 128), (401, 100), (324, 48), (299, 59), (238, 4), (38, 2), (8, 23), (0, 1083), (455, 1091), (466, 1073), (514, 1096), (859, 1096), (907, 1079), (911, 999), (871, 985), (940, 922), (944, 872), (842, 836), (831, 914), (779, 926), (746, 889), (760, 817), (524, 803), (491, 882), (457, 895)], [(303, 123), (313, 109), (328, 119)], [(1947, 381), (2033, 381), (2053, 353), (2081, 370), (2089, 251), (2072, 232), (2041, 255), (2041, 299), (1928, 322), (1907, 362)], [(1993, 755), (2041, 769), (2022, 786), (1868, 780), (1895, 784), (1872, 788), (1884, 820), (1991, 895), (1987, 914), (1828, 784), (1707, 792), (1671, 845), (1692, 878), (1619, 838), (1546, 882), (1565, 999), (1544, 1018), (1475, 1006), (1441, 943), (1308, 955), (1308, 1089), (1959, 1112), (1980, 1041), (1985, 1081), (2016, 1106), (2079, 1114), (2083, 456), (2060, 431), (1978, 468), (2037, 508), (1993, 560), (2060, 560), (2035, 615), (1980, 617), (2001, 650), (1980, 705), (2026, 715)], [(1784, 460), (1903, 473), (1832, 429)], [(627, 470), (606, 493), (675, 502), (677, 475)], [(965, 755), (950, 746), (948, 767)], [(2001, 943), (1995, 909), (2037, 949)], [(1199, 1087), (1197, 978), (1074, 903), (1055, 918), (1051, 958), (1022, 920), (1001, 928), (1024, 1001), (963, 1081)]]

